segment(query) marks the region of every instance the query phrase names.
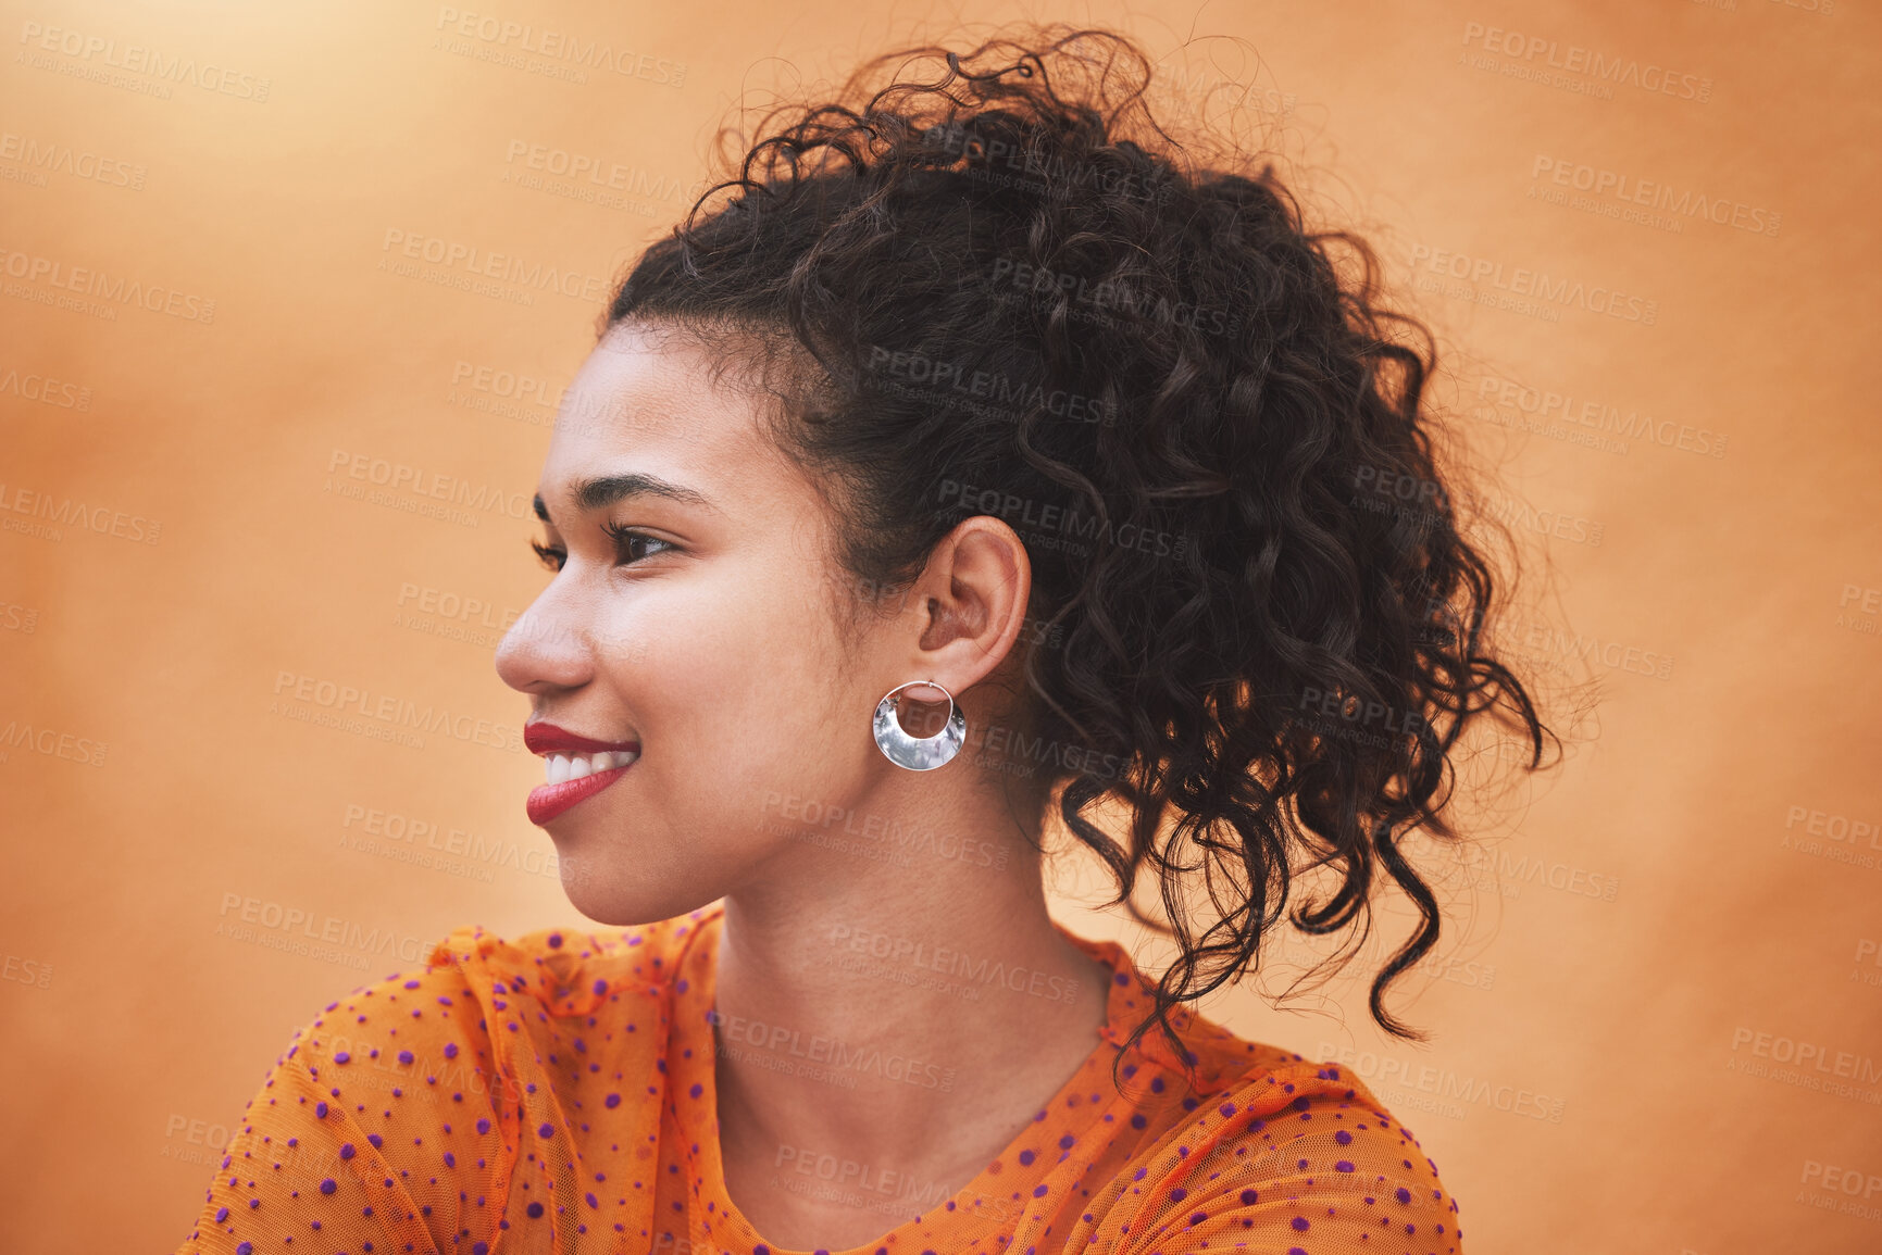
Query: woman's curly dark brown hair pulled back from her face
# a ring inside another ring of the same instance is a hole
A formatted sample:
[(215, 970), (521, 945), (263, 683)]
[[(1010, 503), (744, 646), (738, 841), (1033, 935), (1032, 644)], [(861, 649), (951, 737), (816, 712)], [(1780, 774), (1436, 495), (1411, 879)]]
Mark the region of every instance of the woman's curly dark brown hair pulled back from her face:
[[(918, 62), (930, 81), (900, 81)], [(1043, 779), (1116, 875), (1107, 905), (1180, 950), (1127, 1044), (1157, 1024), (1182, 1056), (1171, 1007), (1252, 971), (1312, 867), (1338, 879), (1304, 933), (1359, 918), (1364, 941), (1376, 869), (1415, 903), (1368, 1007), (1423, 1041), (1383, 1005), (1440, 924), (1400, 845), (1459, 839), (1466, 724), (1515, 711), (1528, 770), (1555, 734), (1489, 653), (1428, 329), (1385, 309), (1363, 239), (1302, 226), (1272, 162), (1195, 164), (1150, 77), (1127, 38), (1063, 24), (877, 56), (772, 109), (600, 329), (796, 357), (781, 442), (841, 495), (864, 587), (911, 580), (960, 517), (1020, 531), (1060, 640), (1024, 659), (1037, 732), (1080, 751)], [(1090, 817), (1107, 800), (1122, 841)], [(1167, 922), (1133, 898), (1144, 866)]]

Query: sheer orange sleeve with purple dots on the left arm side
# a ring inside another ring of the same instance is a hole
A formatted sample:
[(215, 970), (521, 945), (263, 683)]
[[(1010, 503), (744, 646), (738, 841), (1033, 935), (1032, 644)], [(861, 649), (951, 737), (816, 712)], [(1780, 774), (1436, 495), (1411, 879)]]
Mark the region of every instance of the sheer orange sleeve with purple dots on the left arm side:
[(484, 1255), (516, 1104), (482, 1025), (452, 967), (327, 1007), (250, 1099), (177, 1255)]

